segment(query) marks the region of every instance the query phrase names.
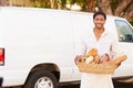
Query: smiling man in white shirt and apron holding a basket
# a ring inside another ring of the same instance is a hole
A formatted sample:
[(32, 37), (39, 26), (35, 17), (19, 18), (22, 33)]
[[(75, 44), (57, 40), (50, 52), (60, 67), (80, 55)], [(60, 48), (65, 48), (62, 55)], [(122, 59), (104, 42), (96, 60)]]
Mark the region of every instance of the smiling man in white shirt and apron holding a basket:
[[(103, 12), (93, 14), (94, 28), (80, 38), (80, 43), (76, 45), (75, 63), (91, 48), (96, 48), (100, 56), (109, 55), (101, 62), (108, 62), (116, 54), (117, 41), (106, 31), (108, 29), (104, 29), (105, 20), (106, 15)], [(113, 88), (111, 75), (83, 73), (81, 88)]]

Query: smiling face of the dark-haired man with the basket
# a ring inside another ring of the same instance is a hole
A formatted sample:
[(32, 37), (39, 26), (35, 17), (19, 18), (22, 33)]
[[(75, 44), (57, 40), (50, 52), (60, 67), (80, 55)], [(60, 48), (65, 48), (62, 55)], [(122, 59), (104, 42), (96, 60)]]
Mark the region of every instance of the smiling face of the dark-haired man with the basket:
[(101, 30), (104, 28), (104, 23), (105, 23), (105, 19), (102, 14), (98, 14), (94, 19), (93, 19), (95, 29)]

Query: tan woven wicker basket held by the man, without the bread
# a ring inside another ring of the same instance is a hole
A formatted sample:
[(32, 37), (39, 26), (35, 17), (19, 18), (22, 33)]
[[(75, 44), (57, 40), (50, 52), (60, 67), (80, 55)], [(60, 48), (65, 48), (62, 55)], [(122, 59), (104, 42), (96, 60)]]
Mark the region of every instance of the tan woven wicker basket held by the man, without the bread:
[(78, 67), (81, 73), (95, 73), (95, 74), (114, 74), (117, 66), (126, 59), (126, 55), (123, 55), (116, 59), (103, 64), (78, 62)]

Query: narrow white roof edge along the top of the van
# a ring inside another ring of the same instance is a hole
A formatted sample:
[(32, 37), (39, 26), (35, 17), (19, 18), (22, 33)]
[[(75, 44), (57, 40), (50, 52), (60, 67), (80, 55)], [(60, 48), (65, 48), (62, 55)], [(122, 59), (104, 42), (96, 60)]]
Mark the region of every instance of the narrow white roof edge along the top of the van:
[[(19, 10), (19, 11), (48, 11), (48, 12), (65, 12), (65, 13), (72, 13), (72, 14), (82, 14), (82, 15), (93, 15), (93, 13), (89, 13), (89, 12), (83, 12), (83, 11), (69, 11), (69, 10), (57, 10), (57, 9), (43, 9), (43, 8), (25, 8), (25, 7), (0, 7), (0, 11), (1, 10)], [(120, 16), (115, 16), (115, 15), (106, 15), (110, 16), (112, 19), (120, 19), (120, 20), (125, 20), (123, 18)]]

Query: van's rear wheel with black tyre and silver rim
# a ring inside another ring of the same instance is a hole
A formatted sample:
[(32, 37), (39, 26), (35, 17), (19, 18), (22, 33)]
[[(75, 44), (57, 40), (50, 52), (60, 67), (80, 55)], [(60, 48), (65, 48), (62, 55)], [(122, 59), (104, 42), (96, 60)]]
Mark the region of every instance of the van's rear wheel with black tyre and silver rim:
[(58, 81), (52, 73), (39, 69), (30, 74), (23, 88), (58, 88)]

